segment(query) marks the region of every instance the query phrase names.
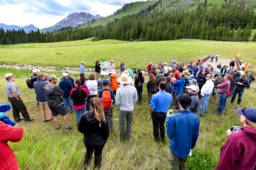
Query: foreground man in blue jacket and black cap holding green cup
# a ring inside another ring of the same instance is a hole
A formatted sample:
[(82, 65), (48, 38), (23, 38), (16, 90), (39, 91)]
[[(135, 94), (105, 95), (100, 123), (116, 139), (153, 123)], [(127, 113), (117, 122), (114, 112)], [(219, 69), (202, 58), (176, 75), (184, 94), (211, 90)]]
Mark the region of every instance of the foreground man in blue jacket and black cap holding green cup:
[(189, 111), (191, 97), (182, 94), (178, 97), (180, 110), (177, 114), (167, 113), (166, 130), (171, 139), (169, 160), (171, 169), (186, 169), (189, 152), (196, 145), (199, 135), (199, 117)]

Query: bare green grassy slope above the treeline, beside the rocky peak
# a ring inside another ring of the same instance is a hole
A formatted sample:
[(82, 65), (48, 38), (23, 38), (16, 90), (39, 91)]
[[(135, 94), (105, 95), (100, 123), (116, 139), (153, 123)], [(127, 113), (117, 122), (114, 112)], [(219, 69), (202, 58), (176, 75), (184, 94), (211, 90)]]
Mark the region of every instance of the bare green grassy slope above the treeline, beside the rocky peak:
[(98, 19), (98, 20), (96, 20), (96, 22), (93, 22), (93, 23), (84, 24), (81, 26), (81, 28), (97, 27), (98, 25), (104, 26), (104, 25), (106, 25), (106, 23), (114, 22), (115, 19), (123, 18), (127, 15), (137, 14), (138, 12), (141, 12), (142, 10), (146, 10), (146, 8), (148, 6), (150, 6), (154, 3), (155, 3), (155, 1), (129, 3), (126, 6), (122, 7), (115, 14), (107, 16), (105, 18)]

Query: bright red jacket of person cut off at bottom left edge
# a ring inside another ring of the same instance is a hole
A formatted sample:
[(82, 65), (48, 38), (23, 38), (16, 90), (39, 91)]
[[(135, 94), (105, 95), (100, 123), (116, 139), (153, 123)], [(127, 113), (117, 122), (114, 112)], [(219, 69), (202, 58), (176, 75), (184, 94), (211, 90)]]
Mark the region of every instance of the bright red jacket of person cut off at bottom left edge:
[(6, 125), (0, 121), (0, 169), (19, 169), (13, 150), (7, 144), (8, 141), (19, 142), (23, 136), (23, 129)]

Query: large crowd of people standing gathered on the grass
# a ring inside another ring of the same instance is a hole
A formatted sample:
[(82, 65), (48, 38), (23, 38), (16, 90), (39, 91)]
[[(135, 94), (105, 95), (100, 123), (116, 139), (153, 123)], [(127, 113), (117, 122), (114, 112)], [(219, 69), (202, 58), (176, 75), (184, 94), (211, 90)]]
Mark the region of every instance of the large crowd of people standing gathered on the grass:
[[(76, 113), (78, 130), (84, 134), (85, 167), (89, 165), (94, 152), (95, 168), (101, 165), (102, 150), (114, 128), (113, 107), (117, 107), (119, 111), (119, 138), (121, 141), (129, 141), (134, 104), (142, 103), (142, 92), (146, 87), (154, 141), (165, 142), (167, 130), (167, 136), (171, 139), (169, 146), (171, 169), (185, 169), (187, 156), (191, 154), (199, 136), (199, 116), (204, 117), (207, 114), (210, 96), (213, 95), (212, 104), (217, 103), (215, 114), (220, 116), (225, 111), (228, 98), (231, 98), (229, 101), (233, 104), (238, 94), (237, 105), (241, 104), (243, 91), (249, 89), (251, 81), (254, 80), (251, 72), (245, 75), (244, 65), (234, 67), (233, 63), (234, 60), (230, 62), (229, 68), (226, 65), (222, 67), (221, 63), (213, 68), (210, 63), (204, 65), (200, 59), (184, 64), (173, 58), (169, 64), (159, 62), (158, 65), (154, 65), (150, 62), (145, 73), (139, 69), (131, 70), (121, 61), (119, 68), (121, 75), (119, 75), (113, 60), (109, 62), (109, 70), (104, 71), (101, 70), (100, 62), (96, 61), (96, 75), (89, 73), (86, 78), (85, 62), (82, 61), (80, 78), (74, 80), (68, 71), (64, 71), (59, 86), (56, 85), (59, 78), (55, 75), (42, 74), (37, 69), (32, 70), (31, 80), (33, 79), (36, 102), (40, 105), (44, 122), (53, 119), (55, 128), (59, 131), (57, 115), (60, 114), (63, 116), (64, 130), (70, 131), (72, 128), (68, 125), (67, 113)], [(148, 74), (148, 81), (144, 78), (145, 74)], [(8, 73), (5, 78), (7, 80), (5, 90), (13, 108), (15, 122), (23, 118), (25, 121), (33, 121), (20, 98), (19, 88), (14, 83), (14, 75)], [(143, 86), (144, 83), (146, 86)], [(177, 110), (175, 114), (172, 110), (168, 110), (172, 103)], [(20, 118), (19, 112), (22, 113), (23, 118)], [(239, 130), (241, 132), (237, 134), (228, 130), (230, 138), (222, 148), (217, 169), (250, 169), (256, 164), (253, 153), (245, 152), (239, 148), (242, 146), (236, 145), (245, 140), (255, 143), (256, 109), (237, 109), (236, 112), (241, 114), (243, 126)], [(3, 126), (3, 129), (15, 128), (3, 125), (1, 119), (0, 126)], [(22, 133), (20, 129), (19, 133)], [(250, 137), (253, 139), (249, 139)], [(239, 140), (236, 141), (237, 138)], [(16, 139), (14, 142), (19, 140)], [(246, 147), (249, 147), (249, 144)], [(254, 145), (252, 148), (255, 150), (255, 147)], [(234, 154), (230, 154), (230, 151), (234, 151)], [(245, 156), (250, 159), (240, 160)]]

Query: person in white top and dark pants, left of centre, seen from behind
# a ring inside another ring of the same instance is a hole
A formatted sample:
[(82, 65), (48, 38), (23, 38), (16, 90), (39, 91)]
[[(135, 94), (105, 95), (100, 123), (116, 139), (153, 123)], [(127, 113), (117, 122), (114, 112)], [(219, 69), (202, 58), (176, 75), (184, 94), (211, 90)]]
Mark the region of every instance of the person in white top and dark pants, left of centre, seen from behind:
[(97, 80), (95, 80), (94, 75), (92, 73), (90, 73), (88, 80), (84, 84), (88, 87), (88, 90), (90, 92), (90, 94), (88, 94), (88, 98), (86, 99), (86, 111), (89, 111), (90, 99), (97, 96), (98, 82), (97, 82)]

